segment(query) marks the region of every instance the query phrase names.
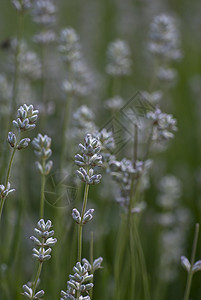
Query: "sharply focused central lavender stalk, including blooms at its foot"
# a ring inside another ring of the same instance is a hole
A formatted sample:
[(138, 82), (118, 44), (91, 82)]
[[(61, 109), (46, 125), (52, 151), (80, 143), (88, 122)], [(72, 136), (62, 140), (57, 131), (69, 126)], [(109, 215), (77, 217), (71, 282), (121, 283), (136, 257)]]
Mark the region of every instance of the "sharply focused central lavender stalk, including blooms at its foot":
[[(75, 163), (81, 166), (76, 171), (77, 176), (85, 182), (84, 199), (82, 204), (81, 213), (78, 209), (72, 210), (72, 217), (78, 224), (78, 258), (77, 263), (73, 268), (74, 275), (69, 275), (69, 281), (67, 282), (67, 291), (61, 291), (61, 299), (92, 299), (88, 295), (88, 291), (93, 288), (93, 283), (88, 283), (93, 279), (93, 273), (96, 269), (100, 268), (102, 258), (96, 259), (91, 265), (86, 259), (82, 260), (82, 231), (83, 226), (92, 220), (94, 209), (88, 209), (87, 199), (89, 186), (98, 184), (101, 180), (100, 174), (95, 174), (95, 168), (102, 165), (102, 156), (100, 153), (99, 139), (93, 137), (91, 134), (87, 134), (84, 138), (84, 145), (79, 144), (81, 151), (80, 154), (75, 155)], [(89, 271), (91, 274), (89, 275)]]

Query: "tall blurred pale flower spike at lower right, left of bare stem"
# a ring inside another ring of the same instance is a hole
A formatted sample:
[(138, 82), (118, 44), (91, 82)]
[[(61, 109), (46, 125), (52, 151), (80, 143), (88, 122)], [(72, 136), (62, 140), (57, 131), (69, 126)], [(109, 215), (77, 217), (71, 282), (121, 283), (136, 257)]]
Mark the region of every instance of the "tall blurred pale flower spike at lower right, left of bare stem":
[(159, 272), (163, 280), (172, 282), (178, 275), (178, 263), (184, 249), (185, 235), (190, 220), (188, 210), (180, 206), (181, 182), (173, 175), (163, 177), (159, 182), (157, 213), (160, 225), (159, 244), (161, 257)]

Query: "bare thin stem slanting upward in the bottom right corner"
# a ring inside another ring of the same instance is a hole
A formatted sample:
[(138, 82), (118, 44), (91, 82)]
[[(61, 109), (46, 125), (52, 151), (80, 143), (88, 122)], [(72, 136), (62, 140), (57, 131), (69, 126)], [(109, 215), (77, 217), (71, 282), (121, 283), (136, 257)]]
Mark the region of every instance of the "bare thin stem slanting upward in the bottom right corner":
[(190, 270), (189, 270), (189, 273), (188, 273), (186, 289), (185, 289), (183, 300), (188, 300), (189, 295), (190, 295), (191, 283), (192, 283), (192, 278), (193, 278), (193, 265), (194, 265), (194, 262), (195, 262), (195, 253), (196, 253), (197, 242), (198, 242), (199, 227), (200, 226), (197, 223), (196, 226), (195, 226), (195, 235), (194, 235), (193, 248), (192, 248), (192, 253), (191, 253), (191, 267), (190, 267)]

